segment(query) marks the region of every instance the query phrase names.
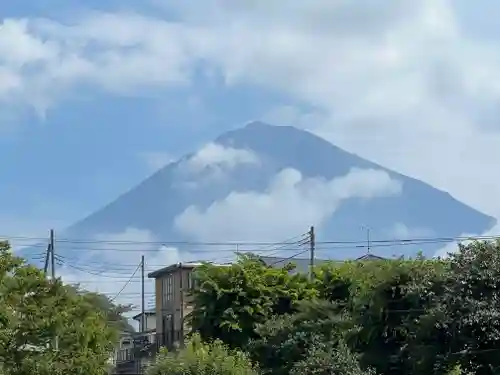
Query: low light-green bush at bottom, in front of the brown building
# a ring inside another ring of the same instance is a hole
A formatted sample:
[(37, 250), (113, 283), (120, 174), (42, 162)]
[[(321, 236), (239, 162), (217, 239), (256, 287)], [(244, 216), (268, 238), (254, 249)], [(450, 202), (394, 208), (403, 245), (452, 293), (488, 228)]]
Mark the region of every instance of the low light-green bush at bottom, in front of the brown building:
[(258, 375), (257, 368), (241, 351), (229, 349), (220, 340), (203, 343), (194, 335), (177, 353), (161, 352), (148, 375)]

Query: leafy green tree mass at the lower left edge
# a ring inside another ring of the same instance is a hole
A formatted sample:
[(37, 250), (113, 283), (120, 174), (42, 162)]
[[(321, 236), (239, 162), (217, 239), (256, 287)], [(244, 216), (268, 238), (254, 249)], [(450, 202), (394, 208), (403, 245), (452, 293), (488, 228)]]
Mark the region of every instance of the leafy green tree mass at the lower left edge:
[(101, 375), (117, 332), (74, 288), (47, 280), (0, 243), (3, 375)]

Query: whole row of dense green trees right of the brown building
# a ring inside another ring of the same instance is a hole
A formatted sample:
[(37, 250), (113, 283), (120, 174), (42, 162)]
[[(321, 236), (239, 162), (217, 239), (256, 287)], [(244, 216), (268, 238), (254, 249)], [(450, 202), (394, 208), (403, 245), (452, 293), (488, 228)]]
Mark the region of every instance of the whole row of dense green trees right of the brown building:
[(315, 279), (245, 256), (196, 273), (192, 330), (261, 372), (500, 373), (500, 242), (447, 259), (332, 262)]

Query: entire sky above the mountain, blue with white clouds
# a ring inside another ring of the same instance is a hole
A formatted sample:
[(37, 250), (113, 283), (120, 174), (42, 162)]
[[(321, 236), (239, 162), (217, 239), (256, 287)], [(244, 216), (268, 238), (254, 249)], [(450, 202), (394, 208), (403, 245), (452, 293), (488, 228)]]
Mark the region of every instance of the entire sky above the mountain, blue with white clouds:
[[(138, 4), (0, 7), (7, 234), (65, 226), (257, 118), (500, 212), (479, 194), (500, 187), (490, 177), (500, 146), (495, 2)], [(481, 176), (481, 188), (463, 181)]]

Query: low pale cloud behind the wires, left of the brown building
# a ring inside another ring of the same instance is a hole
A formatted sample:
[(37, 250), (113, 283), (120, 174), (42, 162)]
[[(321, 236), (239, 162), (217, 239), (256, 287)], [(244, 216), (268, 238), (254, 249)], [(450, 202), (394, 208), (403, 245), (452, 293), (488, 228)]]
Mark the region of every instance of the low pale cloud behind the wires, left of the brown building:
[(116, 298), (116, 302), (133, 304), (132, 315), (140, 312), (141, 255), (145, 257), (146, 308), (154, 307), (154, 283), (147, 274), (180, 261), (189, 261), (192, 254), (180, 253), (175, 247), (161, 245), (151, 232), (126, 228), (120, 233), (103, 233), (89, 243), (57, 242), (58, 261), (56, 276), (67, 283), (80, 283), (89, 291), (116, 296), (131, 278), (129, 284)]

